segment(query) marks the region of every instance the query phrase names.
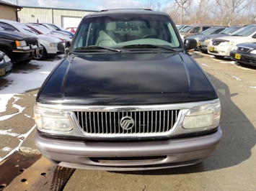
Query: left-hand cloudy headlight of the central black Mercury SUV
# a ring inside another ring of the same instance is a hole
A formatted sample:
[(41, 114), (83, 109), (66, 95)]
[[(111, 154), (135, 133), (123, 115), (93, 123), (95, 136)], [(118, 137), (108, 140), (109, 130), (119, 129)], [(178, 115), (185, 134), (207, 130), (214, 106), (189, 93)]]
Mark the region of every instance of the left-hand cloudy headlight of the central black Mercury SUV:
[(50, 131), (71, 131), (71, 118), (66, 111), (53, 109), (35, 104), (34, 106), (35, 124), (37, 129)]

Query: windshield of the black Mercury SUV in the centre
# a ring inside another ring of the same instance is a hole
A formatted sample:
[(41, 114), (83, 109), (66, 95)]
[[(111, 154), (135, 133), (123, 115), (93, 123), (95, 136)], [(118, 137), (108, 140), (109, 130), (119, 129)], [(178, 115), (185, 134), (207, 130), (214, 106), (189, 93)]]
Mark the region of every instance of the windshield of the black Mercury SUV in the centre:
[(122, 48), (129, 45), (182, 47), (168, 17), (162, 15), (111, 15), (83, 19), (71, 51), (82, 47)]

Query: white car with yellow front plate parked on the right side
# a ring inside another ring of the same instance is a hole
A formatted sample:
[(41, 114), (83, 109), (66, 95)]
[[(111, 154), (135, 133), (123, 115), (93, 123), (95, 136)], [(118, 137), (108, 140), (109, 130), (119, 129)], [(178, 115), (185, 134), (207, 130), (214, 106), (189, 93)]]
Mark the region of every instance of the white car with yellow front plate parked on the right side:
[(208, 54), (217, 58), (229, 57), (230, 51), (244, 42), (256, 42), (256, 24), (248, 25), (238, 29), (231, 36), (213, 39), (207, 46)]

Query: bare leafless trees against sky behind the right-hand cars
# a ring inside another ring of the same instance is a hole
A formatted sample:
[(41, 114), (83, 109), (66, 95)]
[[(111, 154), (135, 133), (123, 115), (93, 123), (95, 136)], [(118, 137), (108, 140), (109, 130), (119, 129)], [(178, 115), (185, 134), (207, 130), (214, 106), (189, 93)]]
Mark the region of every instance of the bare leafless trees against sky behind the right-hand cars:
[(255, 1), (145, 0), (144, 7), (167, 12), (176, 24), (231, 26), (256, 23)]

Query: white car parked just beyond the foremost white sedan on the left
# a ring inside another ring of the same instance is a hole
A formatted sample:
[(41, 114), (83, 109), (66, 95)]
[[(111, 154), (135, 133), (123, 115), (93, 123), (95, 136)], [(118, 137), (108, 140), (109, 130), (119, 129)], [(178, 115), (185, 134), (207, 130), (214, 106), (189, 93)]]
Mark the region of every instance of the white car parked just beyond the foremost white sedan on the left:
[(39, 34), (45, 34), (50, 37), (56, 37), (58, 39), (61, 39), (61, 41), (68, 41), (71, 42), (72, 38), (69, 35), (66, 34), (60, 34), (58, 32), (53, 32), (53, 30), (50, 30), (46, 27), (44, 27), (41, 24), (35, 24), (35, 23), (25, 23), (27, 27), (30, 27), (31, 29), (34, 29)]

